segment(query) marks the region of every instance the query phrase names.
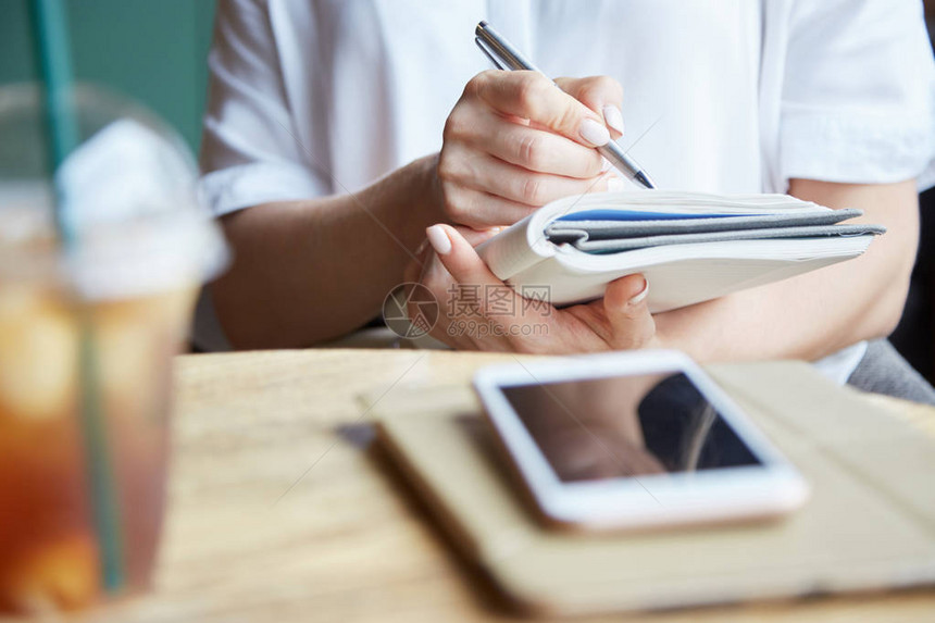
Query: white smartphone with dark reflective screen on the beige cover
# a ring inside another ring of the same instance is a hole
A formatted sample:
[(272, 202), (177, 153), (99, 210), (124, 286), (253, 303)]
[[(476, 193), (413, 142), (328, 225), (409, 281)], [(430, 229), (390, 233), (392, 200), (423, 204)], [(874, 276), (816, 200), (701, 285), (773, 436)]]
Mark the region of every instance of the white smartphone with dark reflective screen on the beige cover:
[(587, 528), (766, 518), (808, 498), (795, 466), (687, 356), (482, 369), (474, 388), (540, 515)]

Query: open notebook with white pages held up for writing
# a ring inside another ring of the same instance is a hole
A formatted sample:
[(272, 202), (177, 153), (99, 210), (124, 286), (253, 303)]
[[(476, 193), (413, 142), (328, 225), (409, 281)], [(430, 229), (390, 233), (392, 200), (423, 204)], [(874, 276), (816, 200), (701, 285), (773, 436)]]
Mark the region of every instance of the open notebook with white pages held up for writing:
[(643, 273), (654, 313), (856, 258), (886, 232), (844, 223), (861, 214), (786, 195), (602, 192), (544, 205), (477, 252), (519, 291), (548, 288), (557, 306)]

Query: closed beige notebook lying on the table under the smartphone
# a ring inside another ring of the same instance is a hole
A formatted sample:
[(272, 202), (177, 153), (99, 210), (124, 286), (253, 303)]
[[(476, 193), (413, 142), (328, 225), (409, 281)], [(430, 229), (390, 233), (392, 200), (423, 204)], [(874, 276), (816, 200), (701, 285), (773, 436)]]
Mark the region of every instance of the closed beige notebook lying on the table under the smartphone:
[(397, 389), (375, 412), (382, 440), (454, 544), (526, 610), (651, 610), (935, 583), (930, 437), (803, 363), (709, 372), (809, 481), (801, 510), (656, 533), (547, 529), (511, 482), (470, 388)]

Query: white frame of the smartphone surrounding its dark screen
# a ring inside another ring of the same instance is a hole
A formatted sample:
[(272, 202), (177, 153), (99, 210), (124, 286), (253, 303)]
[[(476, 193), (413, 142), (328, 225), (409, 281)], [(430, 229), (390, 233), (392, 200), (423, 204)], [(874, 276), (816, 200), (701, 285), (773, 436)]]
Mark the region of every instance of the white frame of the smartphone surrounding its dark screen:
[[(684, 372), (763, 464), (563, 483), (500, 389), (659, 372)], [(809, 497), (808, 483), (798, 470), (691, 359), (678, 351), (518, 360), (477, 371), (474, 388), (540, 511), (558, 523), (620, 529), (713, 523), (785, 514)]]

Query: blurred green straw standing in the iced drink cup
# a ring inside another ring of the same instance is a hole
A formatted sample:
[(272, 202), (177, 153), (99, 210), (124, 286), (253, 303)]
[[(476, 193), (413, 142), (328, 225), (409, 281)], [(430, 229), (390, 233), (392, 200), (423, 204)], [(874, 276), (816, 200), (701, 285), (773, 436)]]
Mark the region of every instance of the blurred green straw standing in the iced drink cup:
[[(66, 256), (77, 248), (75, 215), (67, 210), (66, 189), (55, 175), (68, 152), (78, 142), (77, 121), (72, 110), (72, 72), (68, 54), (67, 15), (61, 0), (33, 0), (33, 29), (37, 55), (45, 83), (46, 135), (49, 160), (55, 179), (55, 227)], [(94, 323), (85, 306), (80, 312), (80, 420), (95, 528), (101, 552), (104, 589), (114, 593), (123, 587), (123, 539), (120, 510), (109, 456), (107, 425), (100, 397), (98, 356)]]

